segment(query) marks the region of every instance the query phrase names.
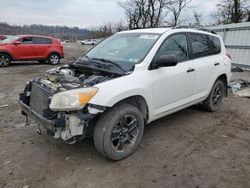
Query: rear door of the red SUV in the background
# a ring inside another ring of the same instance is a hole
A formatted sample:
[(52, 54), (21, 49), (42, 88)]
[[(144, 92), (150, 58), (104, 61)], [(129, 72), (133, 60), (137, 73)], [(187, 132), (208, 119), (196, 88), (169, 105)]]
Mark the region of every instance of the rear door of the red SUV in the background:
[(47, 59), (48, 50), (52, 46), (52, 40), (43, 37), (33, 37), (33, 43), (36, 59)]

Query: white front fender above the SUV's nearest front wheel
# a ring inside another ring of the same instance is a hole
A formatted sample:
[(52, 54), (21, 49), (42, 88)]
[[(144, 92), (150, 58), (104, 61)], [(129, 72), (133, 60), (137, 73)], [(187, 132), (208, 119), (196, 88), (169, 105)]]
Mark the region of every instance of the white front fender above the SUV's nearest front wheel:
[[(143, 78), (143, 79), (141, 79)], [(149, 117), (151, 116), (152, 83), (147, 71), (133, 72), (107, 82), (95, 85), (99, 90), (89, 101), (90, 104), (112, 107), (116, 103), (133, 96), (141, 96), (145, 99)]]

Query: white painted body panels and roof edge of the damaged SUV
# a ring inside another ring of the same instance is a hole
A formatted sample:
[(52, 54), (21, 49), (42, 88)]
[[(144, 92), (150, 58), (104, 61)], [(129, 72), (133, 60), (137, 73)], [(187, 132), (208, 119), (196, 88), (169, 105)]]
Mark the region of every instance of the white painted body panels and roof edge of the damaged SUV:
[[(225, 73), (228, 81), (231, 78), (230, 60), (226, 56), (225, 48), (219, 55), (187, 61), (175, 67), (148, 70), (155, 53), (169, 35), (178, 32), (210, 33), (170, 28), (127, 31), (132, 32), (161, 33), (162, 36), (144, 61), (136, 65), (132, 74), (97, 84), (95, 87), (99, 88), (99, 91), (89, 103), (112, 107), (125, 98), (140, 95), (146, 100), (149, 110), (148, 122), (151, 122), (204, 100), (221, 74)], [(220, 65), (214, 67), (215, 62), (220, 62)], [(192, 67), (196, 71), (188, 74), (187, 70)]]

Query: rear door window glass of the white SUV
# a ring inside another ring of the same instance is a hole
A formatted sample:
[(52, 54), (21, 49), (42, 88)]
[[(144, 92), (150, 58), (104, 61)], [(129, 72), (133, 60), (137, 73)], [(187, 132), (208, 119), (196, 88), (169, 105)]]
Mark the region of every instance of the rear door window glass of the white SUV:
[(192, 48), (192, 56), (194, 58), (211, 54), (207, 35), (189, 33), (188, 37)]

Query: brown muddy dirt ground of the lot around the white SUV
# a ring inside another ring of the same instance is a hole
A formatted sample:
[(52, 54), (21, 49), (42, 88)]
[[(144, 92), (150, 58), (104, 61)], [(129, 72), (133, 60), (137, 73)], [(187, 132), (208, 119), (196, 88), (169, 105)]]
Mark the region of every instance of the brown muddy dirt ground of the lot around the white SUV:
[[(84, 50), (67, 44), (64, 63)], [(160, 119), (146, 127), (134, 155), (111, 162), (92, 139), (67, 145), (39, 136), (34, 123), (25, 127), (18, 94), (52, 67), (0, 69), (0, 106), (9, 105), (0, 109), (0, 188), (250, 187), (250, 99), (229, 97), (218, 113), (192, 107)]]

